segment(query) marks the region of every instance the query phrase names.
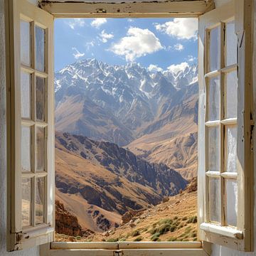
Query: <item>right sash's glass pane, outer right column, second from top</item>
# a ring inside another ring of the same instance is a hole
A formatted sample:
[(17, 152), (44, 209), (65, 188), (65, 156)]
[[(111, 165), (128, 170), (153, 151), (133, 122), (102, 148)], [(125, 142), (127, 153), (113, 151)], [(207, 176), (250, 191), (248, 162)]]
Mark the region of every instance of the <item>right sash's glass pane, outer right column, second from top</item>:
[(236, 71), (225, 75), (225, 118), (237, 117), (238, 76)]

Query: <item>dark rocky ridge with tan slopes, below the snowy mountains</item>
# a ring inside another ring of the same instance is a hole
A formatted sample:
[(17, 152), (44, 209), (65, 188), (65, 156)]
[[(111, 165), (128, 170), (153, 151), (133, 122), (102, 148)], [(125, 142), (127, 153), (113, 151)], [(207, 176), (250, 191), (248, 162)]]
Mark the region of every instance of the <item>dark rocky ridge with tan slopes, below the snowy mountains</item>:
[(183, 190), (187, 181), (111, 142), (55, 134), (56, 198), (83, 229), (108, 230), (128, 210), (148, 208)]

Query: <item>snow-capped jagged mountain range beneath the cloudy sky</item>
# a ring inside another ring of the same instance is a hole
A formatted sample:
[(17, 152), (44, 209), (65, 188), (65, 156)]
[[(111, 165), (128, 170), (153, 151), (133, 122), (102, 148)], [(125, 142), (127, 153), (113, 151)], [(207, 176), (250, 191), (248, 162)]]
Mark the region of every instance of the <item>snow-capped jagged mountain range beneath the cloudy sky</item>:
[(151, 73), (136, 63), (80, 60), (55, 73), (56, 129), (127, 145), (182, 100), (196, 78), (196, 65)]

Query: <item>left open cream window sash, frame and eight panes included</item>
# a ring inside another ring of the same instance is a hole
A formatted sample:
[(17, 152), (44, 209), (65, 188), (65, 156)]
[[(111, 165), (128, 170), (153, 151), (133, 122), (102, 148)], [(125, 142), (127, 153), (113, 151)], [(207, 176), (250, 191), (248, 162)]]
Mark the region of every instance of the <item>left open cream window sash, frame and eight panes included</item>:
[(28, 1), (9, 6), (9, 250), (53, 239), (53, 16)]

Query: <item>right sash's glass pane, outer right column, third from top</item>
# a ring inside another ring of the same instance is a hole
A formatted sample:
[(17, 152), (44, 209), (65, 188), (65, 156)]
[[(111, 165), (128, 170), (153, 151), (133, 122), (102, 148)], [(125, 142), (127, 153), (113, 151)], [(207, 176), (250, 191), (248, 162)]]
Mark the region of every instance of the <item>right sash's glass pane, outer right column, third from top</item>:
[(225, 126), (225, 171), (237, 172), (237, 127), (235, 125)]

